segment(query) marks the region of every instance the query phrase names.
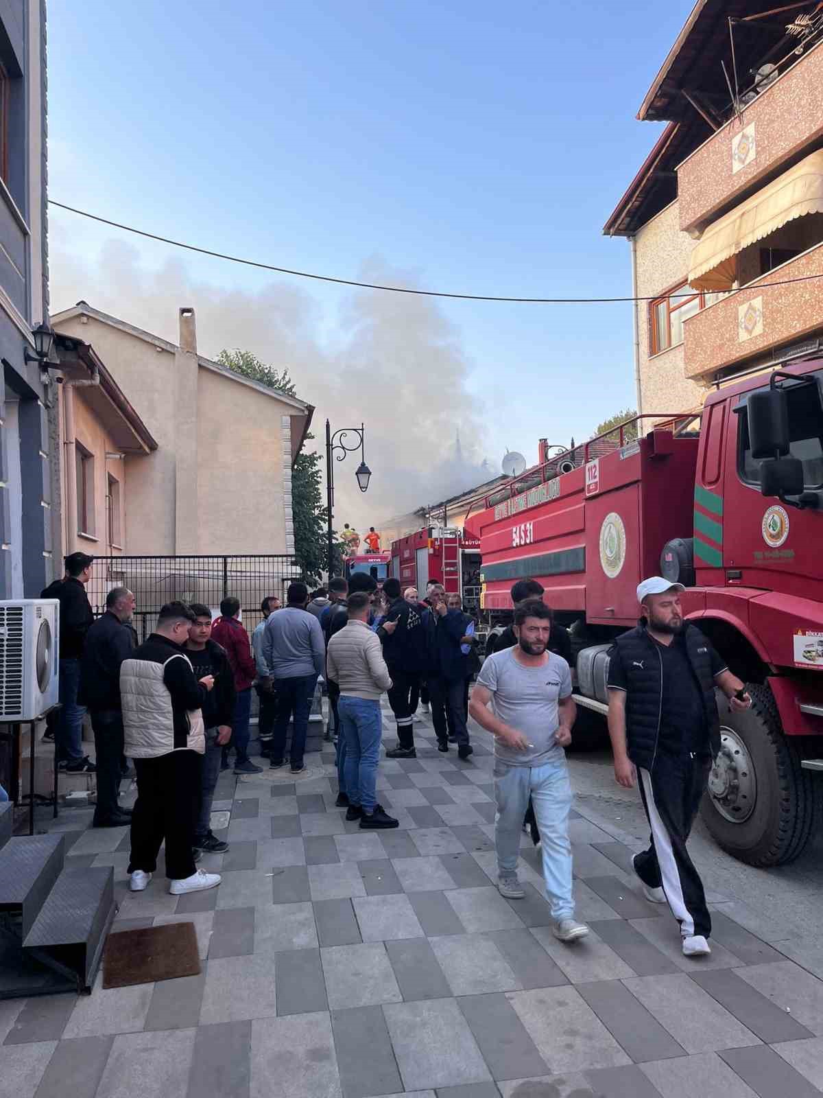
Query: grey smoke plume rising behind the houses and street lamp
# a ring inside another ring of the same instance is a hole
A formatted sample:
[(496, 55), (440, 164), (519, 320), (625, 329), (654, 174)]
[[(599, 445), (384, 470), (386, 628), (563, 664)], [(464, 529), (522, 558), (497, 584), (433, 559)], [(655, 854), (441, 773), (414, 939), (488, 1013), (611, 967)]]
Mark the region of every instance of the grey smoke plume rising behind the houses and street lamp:
[[(189, 262), (178, 259), (151, 269), (120, 240), (81, 260), (55, 221), (53, 313), (83, 299), (177, 343), (178, 309), (193, 305), (201, 355), (214, 358), (224, 347), (239, 347), (277, 369), (289, 368), (297, 395), (316, 407), (308, 447), (323, 450), (327, 416), (332, 429), (365, 424), (371, 485), (365, 496), (357, 489), (357, 455), (337, 466), (338, 527), (376, 525), (489, 478), (478, 450), (483, 410), (466, 385), (471, 366), (435, 300), (362, 290), (342, 294), (335, 305), (332, 296), (322, 303), (293, 282), (228, 289), (198, 280)], [(376, 258), (363, 265), (360, 278), (417, 284), (413, 272)]]

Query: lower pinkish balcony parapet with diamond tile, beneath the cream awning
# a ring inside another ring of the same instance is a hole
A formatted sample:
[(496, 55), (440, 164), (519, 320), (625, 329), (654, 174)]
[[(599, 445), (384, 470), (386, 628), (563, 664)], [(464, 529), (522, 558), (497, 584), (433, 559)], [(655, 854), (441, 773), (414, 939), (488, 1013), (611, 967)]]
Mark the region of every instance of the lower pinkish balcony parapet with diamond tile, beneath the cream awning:
[[(802, 220), (811, 227), (810, 219)], [(757, 257), (767, 250), (760, 247), (764, 243), (753, 246)], [(753, 250), (747, 251), (737, 257), (739, 270), (756, 258)], [(744, 359), (823, 332), (821, 281), (789, 281), (810, 276), (823, 276), (823, 242), (685, 321), (686, 377), (695, 381), (713, 379), (720, 370)], [(774, 282), (785, 284), (768, 289)]]

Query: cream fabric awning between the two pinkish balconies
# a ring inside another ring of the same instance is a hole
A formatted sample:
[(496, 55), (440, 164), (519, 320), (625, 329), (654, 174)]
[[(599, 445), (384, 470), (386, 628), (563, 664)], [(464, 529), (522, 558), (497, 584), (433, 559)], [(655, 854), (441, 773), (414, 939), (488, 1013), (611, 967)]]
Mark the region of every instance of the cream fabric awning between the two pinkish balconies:
[(737, 254), (807, 213), (823, 213), (823, 149), (709, 225), (691, 253), (689, 285), (695, 290), (731, 290)]

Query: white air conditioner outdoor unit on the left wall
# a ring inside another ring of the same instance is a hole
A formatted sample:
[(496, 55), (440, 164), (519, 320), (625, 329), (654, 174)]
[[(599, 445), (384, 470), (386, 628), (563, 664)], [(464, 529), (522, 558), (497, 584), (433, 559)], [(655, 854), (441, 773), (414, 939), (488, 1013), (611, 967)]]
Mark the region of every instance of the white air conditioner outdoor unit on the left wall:
[(56, 705), (59, 614), (56, 598), (0, 601), (0, 722)]

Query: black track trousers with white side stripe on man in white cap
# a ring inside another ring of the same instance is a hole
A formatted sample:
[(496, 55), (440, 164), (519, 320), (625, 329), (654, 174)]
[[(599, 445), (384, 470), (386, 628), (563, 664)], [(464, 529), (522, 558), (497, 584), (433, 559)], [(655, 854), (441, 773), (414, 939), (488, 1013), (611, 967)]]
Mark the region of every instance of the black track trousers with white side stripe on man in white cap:
[(711, 760), (657, 753), (654, 769), (638, 769), (640, 793), (652, 829), (651, 844), (634, 859), (640, 879), (663, 887), (684, 938), (711, 933), (711, 916), (695, 863), (686, 849), (706, 792)]

